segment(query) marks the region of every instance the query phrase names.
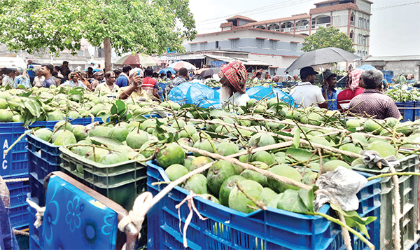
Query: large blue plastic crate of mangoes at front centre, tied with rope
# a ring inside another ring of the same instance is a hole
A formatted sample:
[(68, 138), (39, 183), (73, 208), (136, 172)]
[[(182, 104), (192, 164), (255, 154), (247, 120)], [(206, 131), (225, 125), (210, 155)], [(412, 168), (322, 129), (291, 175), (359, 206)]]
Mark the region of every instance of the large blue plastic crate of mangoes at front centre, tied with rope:
[[(147, 188), (157, 195), (166, 185), (151, 186), (151, 183), (169, 179), (156, 162), (147, 164)], [(379, 181), (370, 181), (360, 191), (359, 213), (378, 210), (374, 206), (380, 205)], [(148, 249), (183, 249), (175, 205), (188, 194), (187, 190), (176, 186), (148, 211)], [(344, 249), (339, 228), (321, 216), (272, 208), (244, 214), (201, 197), (195, 197), (194, 202), (200, 214), (209, 219), (201, 221), (193, 216), (187, 230), (189, 249)], [(187, 204), (183, 204), (181, 228), (189, 212)], [(323, 206), (321, 212), (328, 214), (329, 206)], [(370, 234), (379, 237), (378, 226), (378, 223), (370, 225)], [(379, 238), (372, 239), (379, 242)]]

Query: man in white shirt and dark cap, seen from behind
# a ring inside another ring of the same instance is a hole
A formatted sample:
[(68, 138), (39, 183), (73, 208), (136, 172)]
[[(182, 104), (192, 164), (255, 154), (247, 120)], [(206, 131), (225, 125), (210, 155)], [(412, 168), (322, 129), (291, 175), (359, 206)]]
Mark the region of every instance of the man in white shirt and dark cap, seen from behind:
[(295, 87), (290, 90), (290, 95), (295, 99), (295, 104), (306, 108), (314, 105), (320, 108), (327, 108), (328, 102), (322, 95), (321, 88), (312, 85), (315, 82), (315, 76), (318, 74), (312, 67), (304, 67), (300, 69), (301, 83), (297, 83)]

